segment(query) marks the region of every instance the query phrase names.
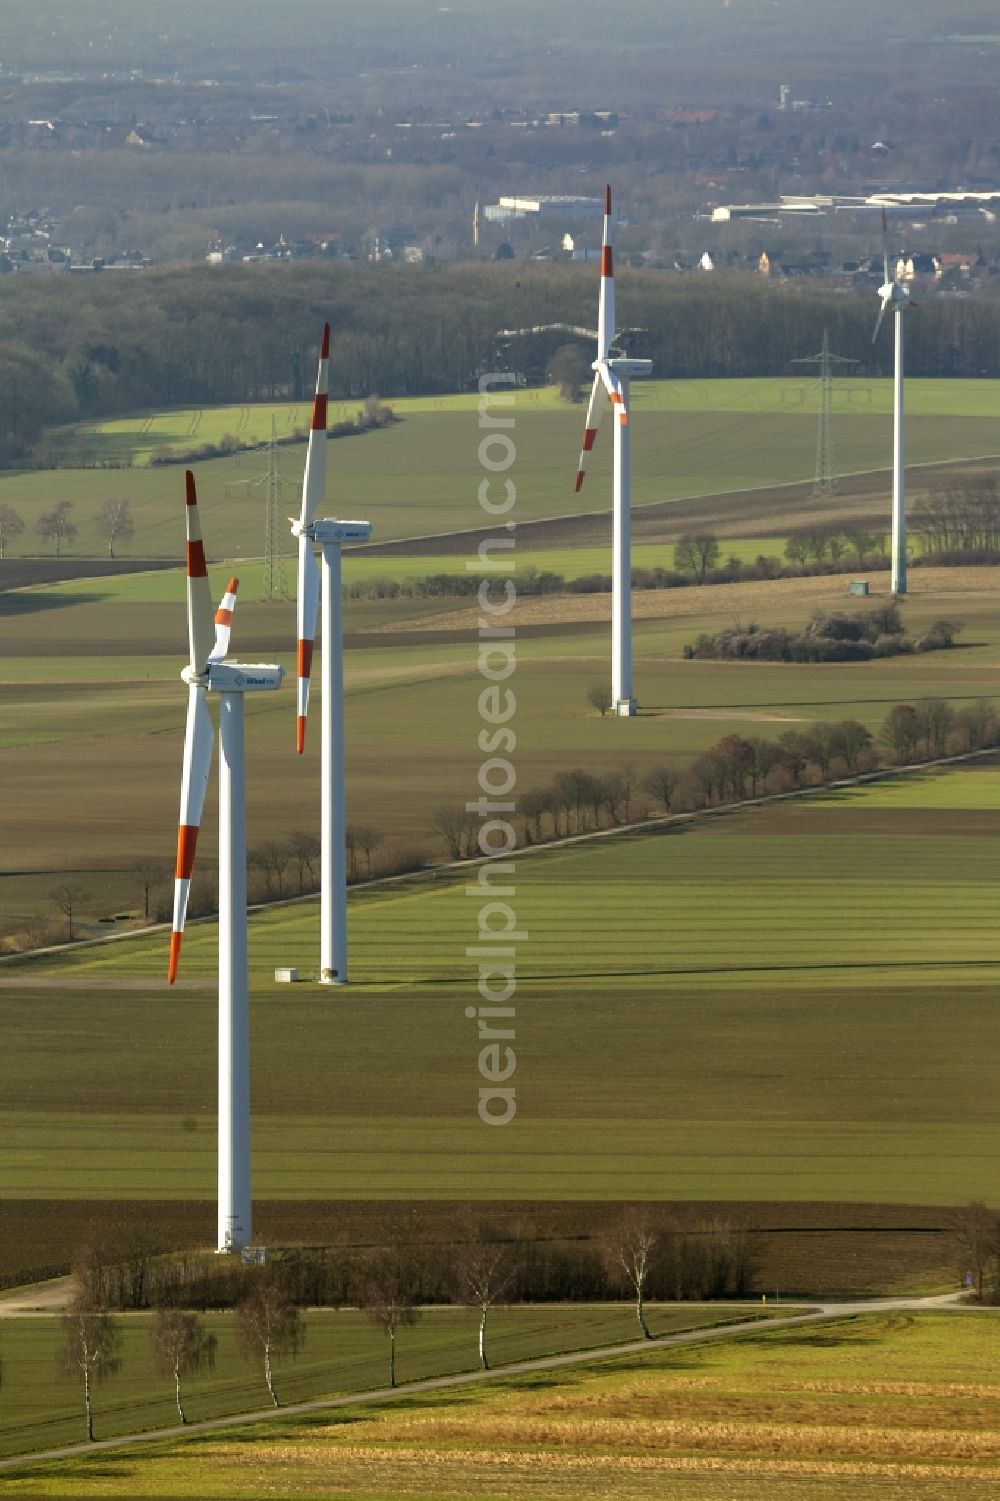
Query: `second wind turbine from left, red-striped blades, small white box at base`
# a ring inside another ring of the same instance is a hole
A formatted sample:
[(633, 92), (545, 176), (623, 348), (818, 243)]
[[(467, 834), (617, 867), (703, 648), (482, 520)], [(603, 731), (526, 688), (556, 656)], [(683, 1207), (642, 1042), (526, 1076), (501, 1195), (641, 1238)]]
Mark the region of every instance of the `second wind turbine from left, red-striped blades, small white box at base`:
[(317, 521), (326, 491), (326, 404), (329, 390), (330, 326), (323, 326), (320, 369), (315, 381), (309, 447), (302, 483), (302, 512), (290, 518), (299, 539), (299, 702), (296, 746), (305, 749), (309, 713), (312, 642), (320, 603), (320, 569), (312, 548), (323, 549), (323, 719), (320, 808), (320, 980), (347, 985), (347, 815), (344, 806), (344, 626), (341, 612), (341, 546), (366, 542), (369, 521)]

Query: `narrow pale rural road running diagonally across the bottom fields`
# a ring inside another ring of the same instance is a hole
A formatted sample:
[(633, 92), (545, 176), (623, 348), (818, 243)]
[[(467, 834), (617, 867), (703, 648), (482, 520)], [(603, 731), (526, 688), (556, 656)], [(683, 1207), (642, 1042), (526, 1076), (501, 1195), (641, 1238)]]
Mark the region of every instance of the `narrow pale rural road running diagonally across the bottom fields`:
[[(536, 1370), (559, 1370), (566, 1366), (586, 1366), (595, 1360), (610, 1360), (616, 1355), (644, 1355), (655, 1349), (670, 1349), (677, 1345), (697, 1345), (707, 1340), (731, 1339), (737, 1334), (760, 1333), (763, 1328), (793, 1328), (802, 1324), (820, 1324), (838, 1318), (856, 1318), (859, 1313), (887, 1313), (893, 1310), (928, 1312), (949, 1309), (965, 1313), (988, 1313), (986, 1307), (961, 1301), (961, 1292), (944, 1292), (932, 1298), (866, 1298), (857, 1303), (818, 1303), (802, 1313), (787, 1318), (772, 1318), (767, 1324), (748, 1319), (742, 1324), (724, 1324), (718, 1328), (692, 1328), (679, 1334), (664, 1334), (659, 1339), (637, 1339), (628, 1345), (601, 1345), (598, 1349), (575, 1349), (566, 1355), (542, 1355), (538, 1360), (520, 1360), (514, 1366), (497, 1366), (495, 1370), (462, 1370), (453, 1376), (434, 1376), (428, 1381), (410, 1381), (402, 1387), (378, 1387), (374, 1391), (353, 1391), (342, 1397), (323, 1397), (318, 1402), (296, 1402), (282, 1408), (263, 1408), (257, 1412), (237, 1412), (233, 1417), (216, 1417), (204, 1423), (188, 1423), (183, 1427), (159, 1427), (144, 1433), (125, 1433), (120, 1438), (99, 1438), (93, 1444), (71, 1444), (65, 1448), (45, 1448), (15, 1459), (0, 1459), (0, 1472), (26, 1469), (47, 1459), (72, 1459), (80, 1454), (96, 1454), (108, 1448), (126, 1448), (134, 1444), (150, 1444), (162, 1438), (186, 1438), (189, 1433), (212, 1433), (227, 1427), (243, 1427), (275, 1417), (296, 1417), (302, 1412), (335, 1412), (338, 1408), (357, 1406), (366, 1402), (396, 1402), (420, 1391), (444, 1391), (449, 1387), (468, 1387), (497, 1376), (532, 1375)], [(12, 1300), (17, 1301), (17, 1300)], [(2, 1309), (2, 1304), (0, 1304)], [(21, 1309), (18, 1312), (38, 1312)], [(2, 1316), (2, 1315), (0, 1315)]]

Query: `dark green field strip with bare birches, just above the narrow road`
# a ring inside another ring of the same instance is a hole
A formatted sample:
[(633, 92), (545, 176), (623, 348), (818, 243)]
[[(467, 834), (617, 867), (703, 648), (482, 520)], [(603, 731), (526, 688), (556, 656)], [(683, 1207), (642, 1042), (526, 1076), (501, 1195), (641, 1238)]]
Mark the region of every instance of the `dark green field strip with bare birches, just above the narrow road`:
[[(760, 1306), (749, 1310), (758, 1313)], [(701, 1328), (745, 1318), (748, 1309), (710, 1306), (650, 1307), (656, 1334)], [(156, 1369), (149, 1315), (122, 1319), (122, 1373), (95, 1393), (98, 1438), (173, 1427), (177, 1423), (173, 1376)], [(216, 1336), (215, 1369), (188, 1379), (188, 1420), (246, 1412), (270, 1403), (263, 1357), (246, 1361), (231, 1313), (207, 1315)], [(305, 1346), (294, 1360), (275, 1366), (281, 1400), (308, 1402), (387, 1384), (387, 1340), (357, 1309), (312, 1310), (305, 1316)], [(495, 1364), (535, 1355), (622, 1343), (634, 1337), (635, 1318), (623, 1303), (568, 1307), (495, 1309), (491, 1348)], [(474, 1370), (479, 1315), (462, 1307), (426, 1309), (413, 1328), (398, 1336), (396, 1376), (401, 1382)], [(62, 1331), (56, 1318), (14, 1318), (3, 1324), (5, 1400), (0, 1409), (0, 1454), (30, 1453), (84, 1438), (83, 1390), (59, 1378)], [(6, 1490), (6, 1477), (0, 1487)]]

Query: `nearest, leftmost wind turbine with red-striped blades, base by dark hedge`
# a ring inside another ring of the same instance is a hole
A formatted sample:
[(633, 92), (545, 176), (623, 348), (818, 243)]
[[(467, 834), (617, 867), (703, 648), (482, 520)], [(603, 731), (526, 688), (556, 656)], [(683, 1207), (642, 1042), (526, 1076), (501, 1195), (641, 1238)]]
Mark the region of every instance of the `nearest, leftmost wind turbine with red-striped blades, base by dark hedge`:
[(275, 689), (285, 669), (270, 663), (227, 662), (236, 605), (230, 579), (212, 620), (194, 474), (186, 479), (188, 639), (191, 662), (180, 674), (188, 684), (174, 923), (168, 979), (173, 985), (188, 914), (188, 895), (204, 796), (212, 770), (215, 731), (209, 693), (219, 695), (219, 1219), (218, 1249), (239, 1250), (251, 1240), (249, 1136), (249, 976), (246, 962), (246, 773), (243, 696)]

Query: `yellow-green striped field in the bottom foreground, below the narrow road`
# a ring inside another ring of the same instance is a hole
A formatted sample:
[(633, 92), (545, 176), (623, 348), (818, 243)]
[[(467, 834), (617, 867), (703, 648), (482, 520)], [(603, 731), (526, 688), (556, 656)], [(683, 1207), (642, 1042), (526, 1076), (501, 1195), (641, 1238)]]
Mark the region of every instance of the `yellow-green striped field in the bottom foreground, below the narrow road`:
[[(339, 1316), (339, 1315), (338, 1315)], [(992, 1313), (868, 1315), (35, 1465), (11, 1495), (992, 1501)]]

